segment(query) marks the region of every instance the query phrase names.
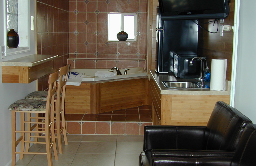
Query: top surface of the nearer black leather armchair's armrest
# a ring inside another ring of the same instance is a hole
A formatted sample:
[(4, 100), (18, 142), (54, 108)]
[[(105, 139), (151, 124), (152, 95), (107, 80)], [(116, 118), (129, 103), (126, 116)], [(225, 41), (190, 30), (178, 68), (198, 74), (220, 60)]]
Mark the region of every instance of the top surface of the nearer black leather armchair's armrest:
[(153, 157), (233, 157), (234, 151), (225, 150), (152, 150)]

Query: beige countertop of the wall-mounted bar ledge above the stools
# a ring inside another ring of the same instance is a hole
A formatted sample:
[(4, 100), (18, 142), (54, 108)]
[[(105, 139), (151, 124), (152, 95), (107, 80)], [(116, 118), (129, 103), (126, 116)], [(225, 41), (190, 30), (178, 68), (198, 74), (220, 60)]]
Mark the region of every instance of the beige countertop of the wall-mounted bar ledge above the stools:
[(36, 66), (57, 58), (58, 55), (30, 55), (9, 61), (0, 62), (0, 66)]

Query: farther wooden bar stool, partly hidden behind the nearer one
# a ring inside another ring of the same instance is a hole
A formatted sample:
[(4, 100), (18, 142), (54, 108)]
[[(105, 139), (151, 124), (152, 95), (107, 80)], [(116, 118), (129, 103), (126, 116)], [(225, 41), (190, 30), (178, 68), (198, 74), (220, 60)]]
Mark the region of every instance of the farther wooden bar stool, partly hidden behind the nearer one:
[[(63, 138), (65, 145), (68, 145), (67, 140), (67, 131), (66, 131), (66, 124), (65, 124), (65, 92), (66, 92), (66, 82), (68, 79), (68, 71), (69, 71), (70, 64), (67, 64), (66, 66), (60, 67), (60, 74), (59, 74), (59, 80), (57, 85), (57, 93), (55, 93), (55, 99), (56, 102), (56, 110), (54, 119), (56, 120), (56, 134), (55, 138), (57, 138), (58, 141), (58, 147), (59, 147), (59, 153), (62, 154), (62, 144), (61, 144), (61, 132), (63, 132)], [(25, 99), (31, 99), (31, 100), (47, 100), (47, 91), (35, 91), (30, 94), (28, 94)], [(38, 115), (37, 115), (38, 116)], [(61, 117), (61, 122), (60, 122)], [(35, 130), (38, 130), (40, 128), (37, 128), (36, 126)], [(29, 137), (30, 135), (28, 135)], [(37, 141), (35, 139), (35, 141)], [(28, 146), (28, 144), (27, 144)], [(28, 147), (26, 147), (26, 150)]]

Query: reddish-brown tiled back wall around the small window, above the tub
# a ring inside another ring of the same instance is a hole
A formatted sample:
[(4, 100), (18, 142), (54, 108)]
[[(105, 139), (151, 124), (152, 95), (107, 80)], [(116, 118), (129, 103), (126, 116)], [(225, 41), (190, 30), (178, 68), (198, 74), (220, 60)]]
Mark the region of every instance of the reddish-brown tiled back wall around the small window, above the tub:
[[(69, 0), (71, 68), (147, 65), (147, 0)], [(137, 13), (137, 41), (108, 41), (108, 12)]]

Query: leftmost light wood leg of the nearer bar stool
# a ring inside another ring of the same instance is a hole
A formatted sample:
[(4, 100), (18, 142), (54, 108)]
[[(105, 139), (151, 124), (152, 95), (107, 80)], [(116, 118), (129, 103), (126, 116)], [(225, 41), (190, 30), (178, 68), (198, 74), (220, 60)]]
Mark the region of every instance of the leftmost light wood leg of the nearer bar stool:
[(12, 111), (12, 166), (16, 163), (16, 112)]

